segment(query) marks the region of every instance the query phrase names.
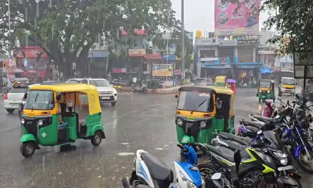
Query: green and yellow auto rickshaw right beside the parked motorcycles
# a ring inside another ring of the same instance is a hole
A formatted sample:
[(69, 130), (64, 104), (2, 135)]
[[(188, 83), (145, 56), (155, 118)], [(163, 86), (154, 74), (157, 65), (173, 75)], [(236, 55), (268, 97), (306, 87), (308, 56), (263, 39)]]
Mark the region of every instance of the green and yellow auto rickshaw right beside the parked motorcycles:
[(180, 144), (210, 144), (215, 130), (235, 132), (232, 90), (218, 86), (182, 86), (175, 97), (175, 123)]

